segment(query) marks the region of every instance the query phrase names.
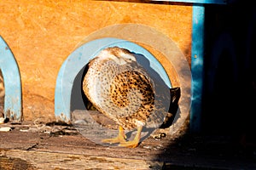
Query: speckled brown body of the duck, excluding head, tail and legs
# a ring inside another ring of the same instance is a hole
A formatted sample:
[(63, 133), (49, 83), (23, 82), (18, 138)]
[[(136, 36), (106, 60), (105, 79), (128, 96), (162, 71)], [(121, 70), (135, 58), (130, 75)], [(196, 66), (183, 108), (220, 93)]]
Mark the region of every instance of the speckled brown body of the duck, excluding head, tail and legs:
[(85, 74), (83, 89), (98, 111), (122, 124), (135, 125), (138, 117), (135, 113), (147, 118), (143, 114), (149, 112), (145, 110), (154, 102), (154, 84), (136, 62), (118, 65), (111, 59), (103, 62), (94, 59)]

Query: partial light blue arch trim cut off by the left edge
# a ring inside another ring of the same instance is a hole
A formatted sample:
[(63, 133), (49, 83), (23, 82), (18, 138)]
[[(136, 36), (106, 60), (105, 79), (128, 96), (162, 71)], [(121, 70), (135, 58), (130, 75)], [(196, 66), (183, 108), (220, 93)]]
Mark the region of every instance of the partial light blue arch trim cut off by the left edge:
[(9, 46), (0, 36), (0, 69), (3, 74), (5, 97), (4, 117), (21, 121), (20, 71)]

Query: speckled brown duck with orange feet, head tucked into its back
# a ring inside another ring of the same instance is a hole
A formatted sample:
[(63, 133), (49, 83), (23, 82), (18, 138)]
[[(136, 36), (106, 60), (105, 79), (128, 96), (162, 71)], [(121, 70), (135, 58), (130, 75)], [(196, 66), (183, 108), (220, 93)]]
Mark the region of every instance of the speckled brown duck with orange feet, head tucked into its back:
[[(119, 135), (103, 139), (103, 143), (134, 148), (140, 142), (143, 126), (161, 125), (169, 105), (157, 99), (156, 86), (134, 54), (125, 48), (105, 48), (90, 60), (83, 81), (84, 94), (96, 110), (119, 124)], [(137, 135), (126, 141), (125, 129), (134, 128)]]

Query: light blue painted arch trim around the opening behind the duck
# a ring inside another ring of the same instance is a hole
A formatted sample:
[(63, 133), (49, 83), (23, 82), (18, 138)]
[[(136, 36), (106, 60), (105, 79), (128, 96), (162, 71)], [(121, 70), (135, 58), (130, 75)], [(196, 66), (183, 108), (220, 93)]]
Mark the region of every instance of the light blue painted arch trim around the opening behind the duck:
[(113, 46), (127, 48), (131, 52), (143, 54), (146, 58), (148, 58), (150, 66), (160, 74), (161, 78), (166, 82), (166, 85), (171, 88), (171, 82), (169, 77), (166, 75), (166, 71), (162, 65), (160, 65), (160, 62), (155, 59), (154, 56), (145, 48), (142, 48), (136, 43), (118, 38), (107, 37), (96, 39), (86, 42), (84, 45), (77, 48), (61, 65), (61, 69), (55, 84), (55, 117), (57, 120), (64, 122), (71, 121), (71, 92), (74, 79), (79, 71), (84, 67), (84, 65), (88, 64), (90, 59), (96, 57), (96, 55), (102, 51), (103, 48)]

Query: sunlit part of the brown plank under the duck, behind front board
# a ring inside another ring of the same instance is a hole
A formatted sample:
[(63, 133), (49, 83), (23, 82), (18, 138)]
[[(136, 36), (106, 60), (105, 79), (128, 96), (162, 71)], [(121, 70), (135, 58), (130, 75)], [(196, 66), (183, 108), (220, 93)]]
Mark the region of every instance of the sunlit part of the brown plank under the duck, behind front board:
[[(11, 125), (10, 132), (0, 132), (0, 148), (3, 150), (33, 150), (59, 152), (66, 154), (86, 154), (88, 156), (108, 156), (124, 159), (156, 160), (163, 150), (173, 142), (174, 136), (155, 140), (152, 137), (143, 140), (139, 147), (131, 149), (96, 144), (84, 137), (73, 127), (41, 125)], [(125, 153), (125, 154), (124, 154)]]

